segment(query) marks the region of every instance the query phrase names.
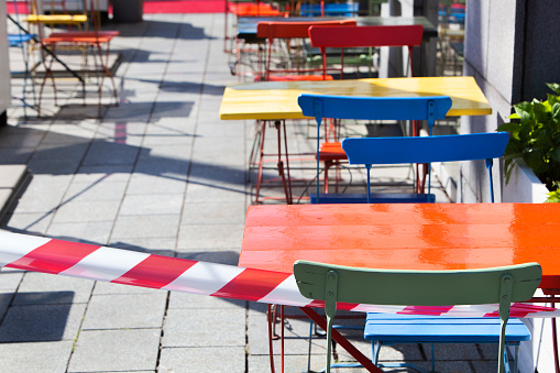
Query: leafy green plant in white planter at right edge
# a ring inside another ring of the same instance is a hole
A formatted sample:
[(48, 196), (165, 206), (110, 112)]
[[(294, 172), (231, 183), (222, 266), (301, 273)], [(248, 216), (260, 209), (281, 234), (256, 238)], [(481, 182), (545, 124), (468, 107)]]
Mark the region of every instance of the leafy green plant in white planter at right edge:
[[(546, 101), (514, 105), (512, 121), (498, 127), (509, 132), (504, 160), (506, 183), (514, 167), (514, 160), (523, 158), (537, 177), (551, 191), (560, 186), (560, 85), (547, 84), (556, 95), (547, 95)], [(558, 199), (558, 194), (554, 195)], [(552, 199), (551, 196), (549, 198)]]

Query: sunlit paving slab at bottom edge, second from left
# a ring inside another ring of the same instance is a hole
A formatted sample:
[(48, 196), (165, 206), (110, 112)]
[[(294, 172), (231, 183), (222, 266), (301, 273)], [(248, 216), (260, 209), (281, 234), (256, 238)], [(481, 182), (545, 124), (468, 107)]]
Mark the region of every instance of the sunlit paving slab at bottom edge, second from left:
[(154, 371), (160, 334), (160, 329), (83, 330), (68, 372)]

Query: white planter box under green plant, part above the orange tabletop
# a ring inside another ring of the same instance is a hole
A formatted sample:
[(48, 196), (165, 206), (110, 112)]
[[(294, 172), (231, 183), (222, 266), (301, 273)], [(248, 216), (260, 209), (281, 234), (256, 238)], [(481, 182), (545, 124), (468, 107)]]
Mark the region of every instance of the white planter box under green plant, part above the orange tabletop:
[(516, 166), (512, 171), (509, 183), (505, 185), (502, 194), (503, 202), (541, 204), (548, 198), (549, 190), (527, 164), (515, 161)]

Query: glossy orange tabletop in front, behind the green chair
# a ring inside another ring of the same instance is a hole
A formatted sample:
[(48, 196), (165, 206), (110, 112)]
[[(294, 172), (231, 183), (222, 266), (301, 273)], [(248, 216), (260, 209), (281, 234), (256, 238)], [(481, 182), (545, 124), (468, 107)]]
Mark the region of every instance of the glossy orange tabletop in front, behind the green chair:
[(404, 270), (538, 262), (560, 289), (560, 204), (266, 205), (249, 208), (239, 265), (296, 260)]

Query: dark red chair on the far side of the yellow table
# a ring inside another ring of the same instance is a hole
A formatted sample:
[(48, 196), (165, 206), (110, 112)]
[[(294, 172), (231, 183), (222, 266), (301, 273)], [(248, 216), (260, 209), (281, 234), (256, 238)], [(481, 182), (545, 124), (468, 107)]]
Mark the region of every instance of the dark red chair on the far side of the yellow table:
[[(355, 26), (329, 28), (311, 26), (309, 39), (311, 46), (319, 47), (322, 58), (322, 76), (330, 72), (339, 72), (341, 77), (344, 69), (344, 48), (348, 47), (408, 47), (410, 72), (413, 70), (413, 48), (422, 41), (424, 28), (421, 25), (392, 25), (392, 26)], [(328, 65), (327, 48), (340, 48), (340, 67)], [(338, 127), (326, 121), (325, 142), (319, 149), (319, 161), (325, 163), (325, 193), (329, 191), (329, 168), (341, 162), (347, 162), (347, 155), (338, 141)], [(417, 134), (419, 125), (415, 124), (413, 132)]]

